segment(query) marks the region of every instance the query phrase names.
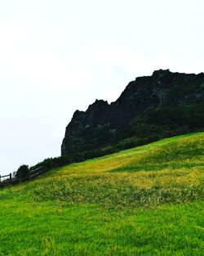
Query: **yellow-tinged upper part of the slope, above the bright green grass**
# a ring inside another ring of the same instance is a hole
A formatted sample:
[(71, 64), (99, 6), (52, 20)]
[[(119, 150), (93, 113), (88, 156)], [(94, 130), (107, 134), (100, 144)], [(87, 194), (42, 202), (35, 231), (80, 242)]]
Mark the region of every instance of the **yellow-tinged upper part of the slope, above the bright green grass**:
[(29, 183), (26, 189), (38, 200), (116, 207), (197, 199), (204, 189), (203, 135), (173, 137), (70, 164)]

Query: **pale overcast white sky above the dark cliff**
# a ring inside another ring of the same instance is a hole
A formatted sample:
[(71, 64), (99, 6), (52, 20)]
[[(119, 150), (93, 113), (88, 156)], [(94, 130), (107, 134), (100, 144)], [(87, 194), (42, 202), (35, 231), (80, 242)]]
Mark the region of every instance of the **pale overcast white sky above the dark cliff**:
[(75, 110), (204, 71), (203, 0), (0, 1), (0, 175), (60, 155)]

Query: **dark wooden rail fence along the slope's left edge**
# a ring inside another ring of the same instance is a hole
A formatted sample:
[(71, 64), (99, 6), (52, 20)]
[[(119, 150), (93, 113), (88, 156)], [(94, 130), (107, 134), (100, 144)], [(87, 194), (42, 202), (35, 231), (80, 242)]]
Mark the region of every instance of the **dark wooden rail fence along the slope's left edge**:
[(46, 173), (46, 168), (36, 168), (32, 171), (29, 171), (29, 174), (25, 177), (21, 176), (21, 173), (19, 173), (19, 177), (12, 177), (11, 173), (8, 175), (0, 175), (0, 186), (8, 186), (8, 185), (14, 185), (20, 182), (27, 182), (35, 177), (38, 177), (42, 173)]

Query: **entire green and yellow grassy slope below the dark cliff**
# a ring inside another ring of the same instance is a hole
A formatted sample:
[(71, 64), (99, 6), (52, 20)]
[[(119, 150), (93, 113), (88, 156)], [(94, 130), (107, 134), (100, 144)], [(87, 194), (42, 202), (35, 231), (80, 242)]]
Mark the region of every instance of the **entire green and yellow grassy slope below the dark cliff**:
[(0, 191), (0, 255), (202, 255), (203, 153), (173, 137)]

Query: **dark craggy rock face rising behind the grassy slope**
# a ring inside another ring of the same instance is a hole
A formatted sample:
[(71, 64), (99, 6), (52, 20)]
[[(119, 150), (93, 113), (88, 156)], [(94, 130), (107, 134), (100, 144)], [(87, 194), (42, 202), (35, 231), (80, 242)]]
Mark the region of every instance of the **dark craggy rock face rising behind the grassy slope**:
[(85, 112), (77, 110), (66, 128), (61, 155), (99, 150), (130, 137), (201, 131), (203, 102), (203, 73), (154, 71), (129, 83), (110, 105), (96, 100)]

